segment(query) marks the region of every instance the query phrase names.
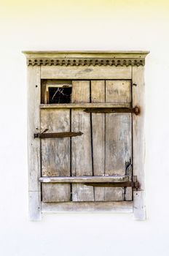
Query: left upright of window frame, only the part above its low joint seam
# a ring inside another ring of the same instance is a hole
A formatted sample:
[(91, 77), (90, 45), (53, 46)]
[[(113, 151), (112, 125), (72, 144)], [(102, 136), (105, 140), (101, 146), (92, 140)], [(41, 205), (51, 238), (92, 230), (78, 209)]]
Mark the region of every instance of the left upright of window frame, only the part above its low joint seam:
[[(37, 87), (36, 87), (37, 86)], [(29, 191), (40, 191), (40, 141), (34, 133), (40, 132), (40, 67), (28, 67), (28, 178)], [(34, 157), (32, 157), (34, 156)]]

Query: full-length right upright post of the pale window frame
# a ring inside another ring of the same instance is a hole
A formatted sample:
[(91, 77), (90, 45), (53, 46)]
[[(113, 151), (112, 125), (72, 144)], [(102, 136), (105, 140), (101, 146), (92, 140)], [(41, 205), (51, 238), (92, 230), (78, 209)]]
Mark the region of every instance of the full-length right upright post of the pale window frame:
[(133, 214), (135, 219), (146, 219), (146, 207), (144, 203), (144, 67), (133, 67), (133, 106), (141, 109), (138, 116), (133, 116), (133, 175), (137, 176), (140, 191), (133, 192)]

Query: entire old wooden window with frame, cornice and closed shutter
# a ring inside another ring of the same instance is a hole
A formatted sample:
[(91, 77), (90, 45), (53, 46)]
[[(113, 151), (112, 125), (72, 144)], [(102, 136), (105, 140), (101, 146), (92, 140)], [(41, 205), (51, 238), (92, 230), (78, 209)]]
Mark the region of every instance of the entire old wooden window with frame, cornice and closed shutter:
[(26, 55), (31, 219), (48, 211), (145, 219), (146, 53)]

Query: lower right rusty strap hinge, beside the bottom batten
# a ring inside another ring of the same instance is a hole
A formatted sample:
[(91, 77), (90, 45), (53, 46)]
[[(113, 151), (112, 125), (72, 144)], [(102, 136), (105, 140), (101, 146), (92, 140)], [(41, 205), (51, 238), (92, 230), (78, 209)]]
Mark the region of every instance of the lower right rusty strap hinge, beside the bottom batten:
[(93, 183), (84, 183), (86, 186), (92, 186), (92, 187), (133, 187), (135, 189), (138, 189), (138, 181), (137, 176), (133, 176), (133, 181), (127, 181), (127, 182), (105, 182), (105, 183), (99, 183), (99, 182), (93, 182)]

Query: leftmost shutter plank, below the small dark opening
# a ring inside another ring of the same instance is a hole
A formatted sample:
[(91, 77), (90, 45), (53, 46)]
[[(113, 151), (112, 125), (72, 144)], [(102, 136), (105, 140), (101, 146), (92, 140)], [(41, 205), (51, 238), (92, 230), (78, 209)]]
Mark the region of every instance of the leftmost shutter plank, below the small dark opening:
[[(42, 132), (69, 132), (69, 109), (41, 110)], [(70, 176), (70, 138), (42, 139), (42, 176)], [(43, 202), (69, 201), (70, 184), (42, 184)]]

